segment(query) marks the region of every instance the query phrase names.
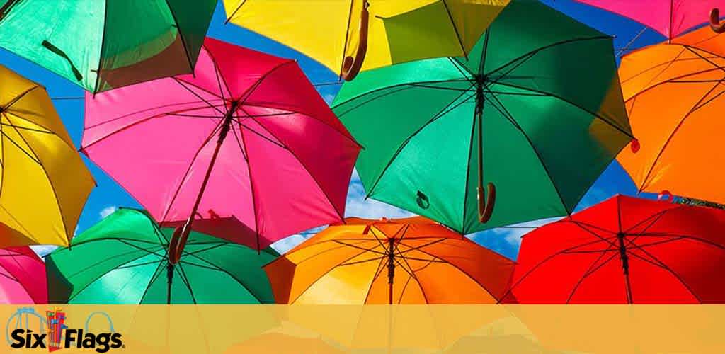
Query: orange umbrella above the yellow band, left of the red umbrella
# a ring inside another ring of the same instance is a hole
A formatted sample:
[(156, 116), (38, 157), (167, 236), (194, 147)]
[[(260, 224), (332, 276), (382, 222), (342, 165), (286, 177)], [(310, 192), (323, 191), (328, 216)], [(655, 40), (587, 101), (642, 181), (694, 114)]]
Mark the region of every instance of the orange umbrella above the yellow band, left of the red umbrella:
[(427, 218), (346, 218), (265, 266), (278, 303), (496, 303), (513, 261)]

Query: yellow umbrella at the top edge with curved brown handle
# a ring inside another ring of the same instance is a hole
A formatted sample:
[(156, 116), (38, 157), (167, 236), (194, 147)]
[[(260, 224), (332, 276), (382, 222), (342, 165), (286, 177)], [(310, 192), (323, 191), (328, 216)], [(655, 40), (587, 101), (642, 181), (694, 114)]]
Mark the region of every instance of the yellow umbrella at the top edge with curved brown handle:
[(509, 1), (224, 0), (224, 7), (227, 22), (290, 46), (352, 80), (359, 70), (468, 56)]

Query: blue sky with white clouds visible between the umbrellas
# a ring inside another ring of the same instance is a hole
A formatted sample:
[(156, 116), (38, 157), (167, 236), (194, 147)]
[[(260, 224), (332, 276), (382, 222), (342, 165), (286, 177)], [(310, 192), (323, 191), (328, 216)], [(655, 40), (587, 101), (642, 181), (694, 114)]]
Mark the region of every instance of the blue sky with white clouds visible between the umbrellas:
[[(623, 17), (603, 12), (586, 5), (575, 3), (571, 0), (543, 0), (544, 3), (550, 4), (552, 7), (565, 12), (567, 15), (574, 17), (581, 22), (585, 22), (604, 33), (608, 33), (615, 36), (615, 48), (625, 48), (632, 38), (637, 36), (640, 31), (644, 28), (637, 22), (626, 20)], [(532, 14), (534, 15), (534, 14)], [(247, 30), (243, 30), (235, 25), (224, 24), (225, 15), (221, 4), (215, 11), (212, 19), (212, 25), (210, 27), (208, 36), (219, 38), (223, 41), (228, 41), (233, 44), (247, 46), (252, 49), (257, 49), (270, 54), (275, 54), (280, 57), (289, 57), (297, 59), (299, 65), (305, 70), (305, 73), (313, 83), (329, 83), (337, 80), (337, 76), (331, 71), (327, 70), (322, 65), (314, 62), (313, 60), (304, 57), (302, 54), (294, 52), (293, 50), (277, 44), (274, 41), (270, 41), (267, 38), (258, 36), (254, 33), (250, 33)], [(641, 36), (631, 44), (631, 48), (639, 46), (645, 46), (647, 44), (654, 44), (661, 41), (663, 38), (658, 34), (653, 33), (651, 30), (646, 30)], [(66, 81), (47, 70), (28, 62), (25, 59), (15, 56), (3, 49), (0, 49), (0, 64), (5, 65), (12, 70), (30, 78), (33, 81), (41, 83), (46, 86), (50, 96), (54, 98), (54, 104), (65, 123), (67, 130), (70, 133), (76, 146), (80, 145), (80, 137), (83, 131), (83, 100), (77, 99), (83, 96), (83, 91), (79, 86)], [(338, 86), (319, 86), (320, 94), (328, 101), (334, 98)], [(85, 159), (85, 157), (84, 157)], [(105, 215), (109, 215), (115, 210), (116, 207), (139, 207), (138, 203), (130, 197), (120, 186), (115, 184), (103, 171), (101, 171), (93, 162), (85, 159), (86, 164), (94, 174), (98, 186), (91, 193), (91, 197), (88, 199), (83, 215), (80, 217), (78, 222), (78, 232), (87, 229), (94, 223), (98, 222)], [(599, 178), (599, 180), (592, 186), (587, 195), (582, 199), (579, 209), (588, 205), (593, 205), (597, 202), (607, 199), (616, 193), (622, 194), (636, 194), (637, 190), (632, 184), (629, 176), (626, 175), (624, 170), (616, 162), (605, 170), (605, 173)], [(374, 200), (364, 200), (365, 191), (360, 179), (357, 175), (354, 175), (350, 183), (350, 189), (347, 200), (347, 215), (363, 216), (370, 218), (378, 218), (381, 216), (386, 217), (400, 217), (410, 215), (410, 213), (400, 210), (397, 207), (392, 207), (381, 202)], [(527, 223), (524, 226), (539, 225), (542, 222)], [(529, 231), (528, 227), (517, 228), (517, 229), (495, 229), (491, 231), (481, 232), (479, 234), (471, 235), (471, 239), (480, 244), (484, 244), (486, 247), (492, 248), (509, 258), (515, 258), (518, 252), (518, 245), (520, 243), (521, 234)], [(308, 236), (309, 233), (305, 236)], [(305, 238), (303, 235), (294, 235), (276, 244), (278, 250), (287, 250), (302, 241)], [(47, 252), (48, 249), (38, 249), (39, 252)]]

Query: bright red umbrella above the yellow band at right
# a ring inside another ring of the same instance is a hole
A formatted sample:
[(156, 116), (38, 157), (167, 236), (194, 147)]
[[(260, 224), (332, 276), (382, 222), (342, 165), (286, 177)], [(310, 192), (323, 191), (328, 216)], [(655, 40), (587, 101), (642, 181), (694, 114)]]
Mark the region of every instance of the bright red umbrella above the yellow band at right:
[(725, 211), (616, 196), (523, 236), (521, 304), (725, 303)]

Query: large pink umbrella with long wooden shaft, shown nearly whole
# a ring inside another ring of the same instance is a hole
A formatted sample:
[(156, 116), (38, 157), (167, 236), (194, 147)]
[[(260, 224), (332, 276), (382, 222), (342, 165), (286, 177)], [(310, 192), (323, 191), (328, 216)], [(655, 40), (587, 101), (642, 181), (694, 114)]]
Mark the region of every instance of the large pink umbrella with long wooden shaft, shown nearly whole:
[(172, 263), (194, 219), (258, 250), (341, 221), (360, 152), (294, 60), (212, 38), (193, 75), (88, 94), (82, 145), (159, 223), (179, 226)]

